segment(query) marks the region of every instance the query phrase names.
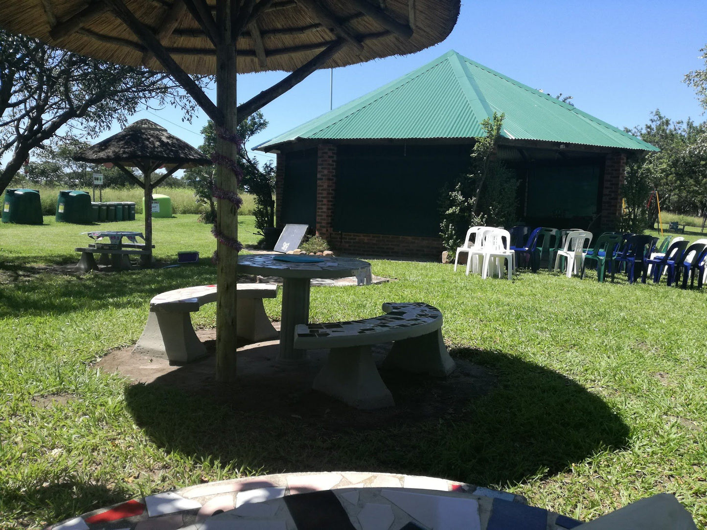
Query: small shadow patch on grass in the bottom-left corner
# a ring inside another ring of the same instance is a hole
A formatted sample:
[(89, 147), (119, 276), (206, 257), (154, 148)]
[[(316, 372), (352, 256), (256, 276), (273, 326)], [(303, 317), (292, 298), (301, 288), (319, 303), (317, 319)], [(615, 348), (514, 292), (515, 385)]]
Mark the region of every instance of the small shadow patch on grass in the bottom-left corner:
[(4, 517), (18, 528), (48, 524), (124, 501), (130, 494), (116, 485), (86, 483), (78, 478), (37, 485), (34, 488), (0, 487), (0, 520)]

